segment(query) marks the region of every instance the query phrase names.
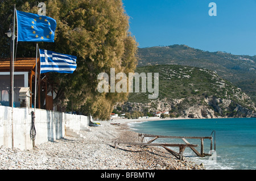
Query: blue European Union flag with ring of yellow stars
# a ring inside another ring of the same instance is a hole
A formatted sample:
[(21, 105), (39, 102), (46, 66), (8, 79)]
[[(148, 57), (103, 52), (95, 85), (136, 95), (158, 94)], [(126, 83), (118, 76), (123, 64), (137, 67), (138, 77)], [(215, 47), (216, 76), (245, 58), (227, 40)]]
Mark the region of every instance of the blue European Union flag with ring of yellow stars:
[(16, 11), (18, 41), (54, 42), (56, 20), (29, 12)]

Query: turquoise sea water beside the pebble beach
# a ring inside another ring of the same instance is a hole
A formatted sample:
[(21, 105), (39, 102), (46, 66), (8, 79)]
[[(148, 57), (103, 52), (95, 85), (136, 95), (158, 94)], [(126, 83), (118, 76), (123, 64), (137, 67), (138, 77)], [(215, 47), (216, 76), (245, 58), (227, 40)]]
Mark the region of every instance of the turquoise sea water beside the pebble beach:
[[(130, 128), (138, 133), (167, 136), (210, 136), (212, 131), (216, 131), (216, 157), (196, 157), (189, 148), (185, 149), (184, 155), (196, 163), (204, 163), (206, 169), (256, 169), (256, 118), (144, 121), (131, 123)], [(188, 141), (198, 144), (196, 149), (200, 152), (200, 140)], [(156, 142), (184, 143), (180, 139), (167, 138)], [(204, 153), (209, 151), (210, 140), (204, 140)]]

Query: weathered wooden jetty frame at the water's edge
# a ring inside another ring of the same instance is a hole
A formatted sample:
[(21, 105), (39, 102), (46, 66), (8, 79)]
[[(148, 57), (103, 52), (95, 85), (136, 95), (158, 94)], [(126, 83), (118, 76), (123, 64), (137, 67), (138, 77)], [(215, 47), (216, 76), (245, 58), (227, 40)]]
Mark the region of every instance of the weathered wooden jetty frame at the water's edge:
[[(214, 133), (214, 150), (216, 150), (216, 141), (215, 141), (215, 134), (216, 132), (213, 131), (212, 134)], [(183, 152), (185, 148), (190, 148), (193, 150), (194, 153), (196, 153), (197, 156), (199, 157), (205, 157), (206, 155), (210, 155), (207, 153), (204, 153), (204, 140), (208, 139), (210, 140), (210, 150), (213, 149), (213, 137), (212, 134), (210, 136), (206, 137), (196, 137), (196, 136), (161, 136), (161, 135), (155, 135), (155, 134), (143, 134), (139, 133), (139, 139), (141, 142), (122, 142), (122, 141), (115, 141), (115, 148), (117, 148), (118, 144), (127, 144), (127, 145), (141, 145), (142, 147), (145, 146), (162, 146), (164, 149), (166, 149), (169, 153), (174, 155), (177, 159), (183, 159)], [(152, 140), (148, 142), (143, 142), (145, 137), (152, 137)], [(185, 144), (166, 144), (166, 143), (152, 143), (158, 138), (172, 138), (172, 139), (181, 139), (185, 142)], [(201, 140), (201, 150), (200, 152), (196, 150), (196, 147), (198, 145), (191, 144), (187, 141), (187, 139), (200, 139)], [(177, 153), (174, 150), (171, 150), (170, 148), (167, 147), (179, 147), (179, 153)]]

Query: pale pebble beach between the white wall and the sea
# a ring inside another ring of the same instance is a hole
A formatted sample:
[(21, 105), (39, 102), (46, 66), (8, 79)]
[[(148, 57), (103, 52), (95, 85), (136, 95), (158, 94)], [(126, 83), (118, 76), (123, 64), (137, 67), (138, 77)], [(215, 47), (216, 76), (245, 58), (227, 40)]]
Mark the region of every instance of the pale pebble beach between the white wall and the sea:
[[(113, 119), (94, 121), (99, 127), (81, 131), (84, 138), (64, 136), (60, 140), (36, 145), (31, 150), (0, 147), (2, 170), (204, 170), (203, 165), (176, 159), (156, 146), (141, 148), (114, 142), (138, 142), (138, 133), (127, 123), (156, 119)], [(163, 120), (163, 119), (161, 119)], [(114, 123), (114, 124), (113, 124)]]

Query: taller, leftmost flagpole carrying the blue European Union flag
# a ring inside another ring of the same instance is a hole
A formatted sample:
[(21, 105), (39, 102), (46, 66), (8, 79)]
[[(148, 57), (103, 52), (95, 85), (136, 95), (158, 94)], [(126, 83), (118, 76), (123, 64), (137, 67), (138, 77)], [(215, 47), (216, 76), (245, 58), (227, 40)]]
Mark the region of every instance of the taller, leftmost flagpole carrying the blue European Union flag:
[(11, 86), (11, 147), (14, 148), (14, 142), (13, 142), (13, 98), (14, 98), (14, 44), (15, 44), (15, 15), (16, 14), (16, 6), (14, 5), (14, 17), (13, 17), (13, 57), (12, 57), (12, 66), (13, 66), (13, 71), (11, 72), (11, 75), (13, 77), (12, 79), (12, 86)]

